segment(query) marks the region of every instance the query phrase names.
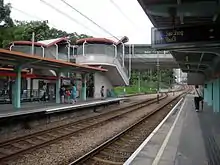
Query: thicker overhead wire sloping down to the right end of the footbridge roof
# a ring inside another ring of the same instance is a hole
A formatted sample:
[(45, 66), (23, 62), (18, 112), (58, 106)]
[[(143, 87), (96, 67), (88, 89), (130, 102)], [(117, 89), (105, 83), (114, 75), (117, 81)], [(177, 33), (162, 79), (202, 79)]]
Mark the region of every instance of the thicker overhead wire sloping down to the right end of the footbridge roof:
[(60, 0), (62, 1), (64, 4), (66, 4), (67, 6), (69, 6), (71, 9), (73, 9), (74, 11), (76, 11), (77, 13), (79, 13), (81, 16), (83, 16), (84, 18), (86, 18), (87, 20), (89, 20), (90, 22), (92, 22), (94, 25), (96, 25), (97, 27), (99, 27), (101, 30), (103, 30), (104, 32), (106, 32), (107, 34), (109, 34), (110, 36), (112, 36), (113, 38), (120, 40), (118, 37), (116, 37), (115, 35), (113, 35), (111, 32), (109, 32), (108, 30), (106, 30), (105, 28), (103, 28), (102, 26), (100, 26), (98, 23), (96, 23), (95, 21), (93, 21), (91, 18), (89, 18), (88, 16), (86, 16), (85, 14), (83, 14), (82, 12), (80, 12), (78, 9), (76, 9), (75, 7), (73, 7), (72, 5), (70, 5), (69, 3), (67, 3), (65, 0)]

